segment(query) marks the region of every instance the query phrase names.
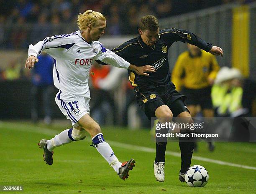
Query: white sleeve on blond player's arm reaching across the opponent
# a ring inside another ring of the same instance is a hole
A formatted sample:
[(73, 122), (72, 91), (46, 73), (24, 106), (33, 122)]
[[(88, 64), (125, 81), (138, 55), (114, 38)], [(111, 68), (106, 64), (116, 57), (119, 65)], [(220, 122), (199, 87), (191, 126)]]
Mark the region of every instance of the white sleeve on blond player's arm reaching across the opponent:
[(95, 56), (95, 60), (100, 60), (106, 64), (110, 64), (115, 67), (128, 69), (128, 67), (130, 66), (129, 62), (125, 61), (122, 57), (119, 57), (114, 52), (106, 49), (105, 47), (103, 47), (102, 44), (100, 44), (100, 46), (101, 50), (98, 55)]

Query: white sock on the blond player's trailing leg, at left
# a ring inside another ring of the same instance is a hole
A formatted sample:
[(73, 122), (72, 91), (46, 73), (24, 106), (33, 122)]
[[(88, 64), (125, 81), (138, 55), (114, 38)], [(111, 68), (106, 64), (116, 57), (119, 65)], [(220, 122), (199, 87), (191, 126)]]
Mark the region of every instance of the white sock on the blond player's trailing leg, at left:
[[(55, 147), (59, 147), (64, 144), (68, 144), (74, 141), (73, 137), (71, 136), (72, 129), (66, 129), (60, 134), (56, 135), (54, 138), (48, 140), (47, 143), (47, 149), (51, 152)], [(70, 139), (70, 137), (72, 139)]]

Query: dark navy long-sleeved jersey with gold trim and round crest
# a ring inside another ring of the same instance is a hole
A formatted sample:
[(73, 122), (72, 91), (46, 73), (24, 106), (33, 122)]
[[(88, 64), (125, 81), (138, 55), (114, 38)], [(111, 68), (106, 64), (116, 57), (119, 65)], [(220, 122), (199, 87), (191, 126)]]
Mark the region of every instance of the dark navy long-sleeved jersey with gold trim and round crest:
[(114, 48), (112, 51), (133, 65), (151, 65), (155, 68), (156, 72), (150, 72), (149, 76), (137, 75), (135, 72), (128, 70), (129, 81), (133, 86), (154, 87), (170, 85), (172, 82), (168, 50), (172, 43), (177, 41), (196, 45), (206, 52), (212, 48), (212, 44), (206, 43), (195, 34), (186, 30), (172, 28), (160, 30), (159, 40), (155, 42), (154, 46), (146, 45), (139, 35)]

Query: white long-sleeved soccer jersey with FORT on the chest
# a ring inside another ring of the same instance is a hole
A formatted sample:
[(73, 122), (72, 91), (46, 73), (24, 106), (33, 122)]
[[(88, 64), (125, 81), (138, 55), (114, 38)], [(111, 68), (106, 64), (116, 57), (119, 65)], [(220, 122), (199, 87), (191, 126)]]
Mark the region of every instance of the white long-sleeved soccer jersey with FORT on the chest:
[(130, 63), (106, 49), (99, 41), (88, 43), (80, 31), (47, 37), (29, 45), (28, 56), (44, 51), (54, 58), (54, 85), (62, 92), (90, 98), (88, 76), (95, 60), (128, 69)]

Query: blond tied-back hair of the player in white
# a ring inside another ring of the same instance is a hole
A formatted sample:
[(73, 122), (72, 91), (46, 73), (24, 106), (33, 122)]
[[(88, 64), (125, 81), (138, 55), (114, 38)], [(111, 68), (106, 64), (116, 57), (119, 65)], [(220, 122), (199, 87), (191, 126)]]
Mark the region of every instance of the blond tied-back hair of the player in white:
[(77, 16), (77, 25), (80, 30), (86, 30), (89, 25), (95, 26), (98, 20), (106, 21), (106, 18), (100, 12), (86, 10)]

